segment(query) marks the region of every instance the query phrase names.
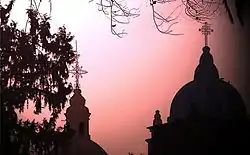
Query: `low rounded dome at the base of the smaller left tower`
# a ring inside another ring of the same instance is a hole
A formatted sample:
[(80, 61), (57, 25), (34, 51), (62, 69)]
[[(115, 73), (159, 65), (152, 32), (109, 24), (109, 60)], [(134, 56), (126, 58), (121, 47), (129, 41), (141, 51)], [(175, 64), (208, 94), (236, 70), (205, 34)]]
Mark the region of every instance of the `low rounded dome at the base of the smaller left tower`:
[(106, 151), (92, 140), (81, 140), (71, 146), (72, 155), (107, 155)]

